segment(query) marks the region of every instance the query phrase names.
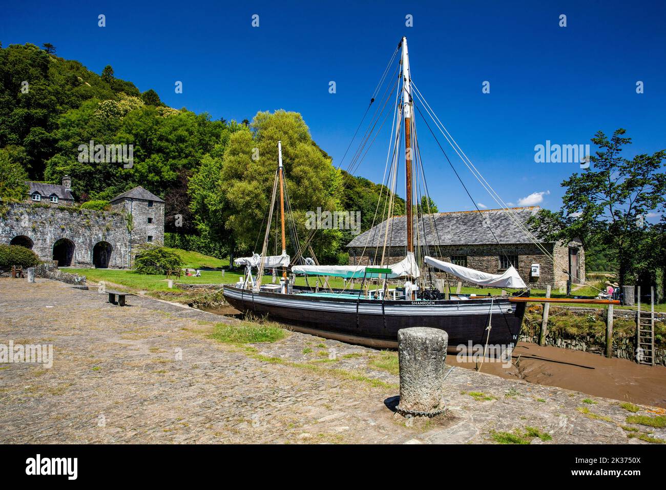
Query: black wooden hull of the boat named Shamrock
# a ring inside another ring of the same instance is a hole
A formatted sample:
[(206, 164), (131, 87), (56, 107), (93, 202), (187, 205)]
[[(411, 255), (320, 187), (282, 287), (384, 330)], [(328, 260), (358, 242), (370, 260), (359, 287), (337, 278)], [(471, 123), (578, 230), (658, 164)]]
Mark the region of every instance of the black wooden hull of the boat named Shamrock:
[(525, 303), (507, 298), (382, 302), (253, 293), (225, 286), (224, 299), (238, 311), (268, 316), (296, 331), (383, 349), (398, 347), (398, 330), (410, 327), (446, 331), (450, 352), (486, 342), (507, 348), (517, 343), (525, 313)]

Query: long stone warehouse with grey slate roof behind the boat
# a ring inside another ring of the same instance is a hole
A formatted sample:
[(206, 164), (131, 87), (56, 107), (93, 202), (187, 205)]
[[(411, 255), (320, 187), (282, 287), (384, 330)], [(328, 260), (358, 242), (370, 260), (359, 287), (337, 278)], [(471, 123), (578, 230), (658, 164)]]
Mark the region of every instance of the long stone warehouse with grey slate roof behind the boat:
[[(527, 220), (539, 211), (538, 206), (514, 207), (516, 221)], [(432, 217), (432, 219), (431, 219)], [(386, 259), (396, 263), (405, 257), (406, 218), (396, 216), (388, 223)], [(432, 225), (434, 223), (434, 226)], [(350, 264), (374, 264), (381, 261), (387, 221), (354, 237), (347, 248)], [(432, 257), (492, 274), (501, 274), (513, 265), (529, 287), (555, 289), (585, 281), (585, 252), (580, 241), (554, 243), (543, 241), (543, 247), (553, 260), (533, 243), (527, 233), (503, 209), (455, 211), (424, 217), (415, 237), (426, 237), (427, 250)], [(425, 248), (425, 247), (424, 247)], [(538, 265), (533, 271), (533, 265)]]

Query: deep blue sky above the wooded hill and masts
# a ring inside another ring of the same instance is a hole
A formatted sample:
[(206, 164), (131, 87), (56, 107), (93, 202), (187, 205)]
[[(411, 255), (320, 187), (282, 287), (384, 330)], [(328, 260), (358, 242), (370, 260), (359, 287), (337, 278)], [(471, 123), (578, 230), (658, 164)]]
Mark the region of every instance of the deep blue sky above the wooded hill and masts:
[[(141, 91), (214, 119), (298, 111), (336, 165), (403, 35), (415, 83), (506, 202), (561, 205), (559, 184), (579, 165), (535, 163), (534, 147), (546, 140), (585, 144), (599, 129), (624, 127), (629, 156), (666, 147), (661, 1), (40, 3), (3, 5), (3, 46), (52, 43), (61, 57), (97, 73), (110, 64)], [(414, 27), (406, 27), (408, 14)], [(559, 27), (561, 14), (567, 27)], [(482, 93), (484, 81), (490, 93)], [(472, 209), (420, 119), (417, 127), (440, 211)], [(388, 134), (378, 137), (357, 175), (381, 180), (386, 141)], [(452, 161), (474, 200), (497, 207)], [(404, 182), (404, 195), (400, 189)]]

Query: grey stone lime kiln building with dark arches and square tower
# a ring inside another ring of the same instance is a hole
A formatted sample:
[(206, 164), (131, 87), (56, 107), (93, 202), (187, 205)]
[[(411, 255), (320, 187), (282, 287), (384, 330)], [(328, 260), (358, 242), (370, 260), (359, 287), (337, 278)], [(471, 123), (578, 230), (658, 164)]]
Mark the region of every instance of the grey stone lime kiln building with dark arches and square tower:
[(143, 187), (111, 199), (111, 211), (75, 205), (71, 179), (28, 182), (25, 203), (0, 212), (0, 243), (32, 249), (59, 267), (131, 267), (139, 245), (164, 242), (165, 201)]

